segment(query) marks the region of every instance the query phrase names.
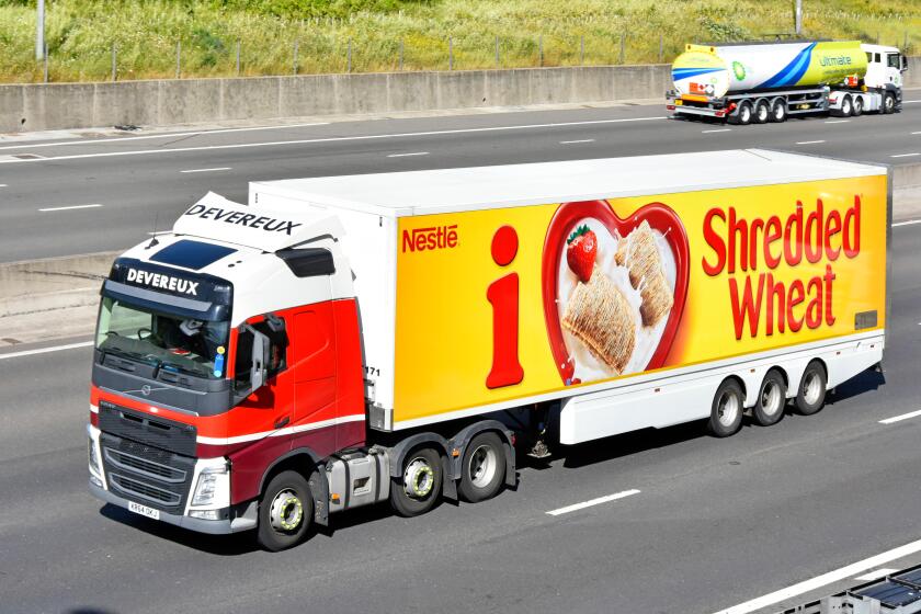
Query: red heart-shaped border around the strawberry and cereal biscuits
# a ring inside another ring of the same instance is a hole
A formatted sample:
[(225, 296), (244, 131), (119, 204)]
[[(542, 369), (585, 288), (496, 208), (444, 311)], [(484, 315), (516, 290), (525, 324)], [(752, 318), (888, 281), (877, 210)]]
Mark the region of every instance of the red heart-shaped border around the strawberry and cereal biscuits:
[(649, 364), (646, 369), (659, 368), (668, 356), (678, 333), (678, 325), (684, 311), (684, 300), (687, 296), (687, 274), (690, 253), (687, 248), (687, 235), (684, 225), (671, 208), (662, 203), (649, 203), (637, 209), (627, 219), (617, 217), (605, 201), (583, 201), (579, 203), (564, 203), (554, 214), (547, 227), (547, 237), (544, 240), (544, 257), (542, 271), (542, 289), (544, 296), (544, 319), (547, 323), (547, 337), (550, 341), (550, 351), (554, 354), (559, 375), (564, 384), (572, 383), (572, 375), (576, 365), (566, 342), (560, 327), (559, 311), (557, 309), (557, 288), (559, 287), (559, 262), (565, 257), (566, 239), (576, 227), (576, 224), (585, 218), (594, 218), (604, 225), (613, 236), (615, 232), (621, 237), (629, 235), (643, 220), (647, 220), (652, 229), (664, 235), (671, 248), (675, 264), (674, 280), (674, 304), (669, 314), (669, 319), (659, 340)]

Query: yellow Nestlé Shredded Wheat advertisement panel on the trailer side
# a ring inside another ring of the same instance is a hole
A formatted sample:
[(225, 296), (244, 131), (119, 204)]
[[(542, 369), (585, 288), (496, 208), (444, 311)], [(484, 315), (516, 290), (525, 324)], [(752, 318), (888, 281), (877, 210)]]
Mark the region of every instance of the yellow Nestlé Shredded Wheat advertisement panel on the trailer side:
[(886, 205), (869, 177), (401, 218), (394, 419), (882, 329)]

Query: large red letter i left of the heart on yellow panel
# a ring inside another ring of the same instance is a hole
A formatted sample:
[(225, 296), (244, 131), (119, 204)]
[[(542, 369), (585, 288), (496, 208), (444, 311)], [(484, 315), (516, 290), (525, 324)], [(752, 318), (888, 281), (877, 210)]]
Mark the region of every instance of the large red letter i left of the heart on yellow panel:
[[(492, 260), (508, 266), (518, 254), (518, 232), (502, 226), (492, 237)], [(486, 297), (492, 304), (492, 369), (487, 388), (501, 388), (521, 383), (524, 369), (518, 360), (519, 276), (509, 273), (489, 284)]]

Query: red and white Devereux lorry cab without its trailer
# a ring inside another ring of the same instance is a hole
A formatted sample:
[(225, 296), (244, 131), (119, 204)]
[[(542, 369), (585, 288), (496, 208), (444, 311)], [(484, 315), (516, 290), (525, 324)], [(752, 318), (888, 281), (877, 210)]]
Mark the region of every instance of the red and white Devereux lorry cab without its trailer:
[[(232, 533), (257, 525), (255, 499), (280, 459), (364, 444), (357, 312), (337, 224), (208, 194), (172, 234), (115, 260), (92, 366), (94, 494)], [(276, 522), (308, 508), (286, 501)]]

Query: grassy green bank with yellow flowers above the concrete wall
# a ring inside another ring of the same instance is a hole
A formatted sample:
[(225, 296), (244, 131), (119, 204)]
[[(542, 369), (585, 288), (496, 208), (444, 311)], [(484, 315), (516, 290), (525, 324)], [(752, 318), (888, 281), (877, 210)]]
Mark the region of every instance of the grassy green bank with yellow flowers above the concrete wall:
[[(793, 2), (764, 0), (46, 0), (52, 81), (455, 70), (668, 61), (687, 42), (773, 38)], [(804, 0), (807, 37), (921, 50), (918, 0)], [(351, 41), (351, 45), (350, 45)], [(584, 52), (581, 42), (584, 41)], [(0, 0), (0, 81), (43, 79), (35, 1)]]

